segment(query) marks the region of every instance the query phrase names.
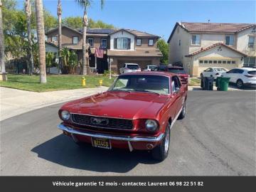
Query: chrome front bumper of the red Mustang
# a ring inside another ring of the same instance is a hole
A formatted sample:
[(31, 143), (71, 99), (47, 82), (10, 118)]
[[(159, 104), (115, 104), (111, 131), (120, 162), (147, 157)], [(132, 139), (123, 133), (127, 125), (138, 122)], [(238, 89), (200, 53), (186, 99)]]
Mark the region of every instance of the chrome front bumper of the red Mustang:
[(88, 137), (97, 137), (101, 139), (114, 139), (114, 140), (121, 140), (126, 142), (160, 142), (161, 139), (164, 138), (164, 134), (159, 134), (158, 137), (129, 137), (129, 136), (112, 136), (110, 134), (99, 134), (99, 133), (87, 133), (87, 132), (80, 132), (75, 130), (71, 127), (65, 126), (64, 124), (59, 124), (58, 129), (61, 129), (65, 132), (70, 134), (80, 134)]

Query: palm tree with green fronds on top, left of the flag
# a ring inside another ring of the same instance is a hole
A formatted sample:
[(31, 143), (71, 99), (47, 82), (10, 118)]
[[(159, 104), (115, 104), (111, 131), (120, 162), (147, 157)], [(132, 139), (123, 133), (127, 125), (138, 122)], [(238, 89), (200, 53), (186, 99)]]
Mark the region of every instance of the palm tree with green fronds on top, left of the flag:
[[(82, 75), (87, 75), (88, 72), (88, 65), (87, 59), (86, 59), (86, 31), (87, 31), (87, 26), (88, 26), (88, 17), (87, 17), (87, 9), (90, 7), (92, 4), (92, 0), (75, 0), (77, 3), (82, 6), (84, 9), (84, 15), (82, 18)], [(104, 5), (104, 0), (100, 0), (101, 8), (103, 8)]]

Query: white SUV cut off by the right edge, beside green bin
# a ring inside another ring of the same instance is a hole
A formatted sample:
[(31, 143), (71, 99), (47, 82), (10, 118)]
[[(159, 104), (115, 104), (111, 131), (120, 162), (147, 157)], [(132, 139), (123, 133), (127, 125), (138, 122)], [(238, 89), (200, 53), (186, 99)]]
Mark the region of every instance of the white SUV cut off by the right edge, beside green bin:
[(256, 85), (256, 69), (255, 68), (234, 68), (222, 73), (223, 77), (230, 78), (230, 82), (242, 88), (245, 85)]

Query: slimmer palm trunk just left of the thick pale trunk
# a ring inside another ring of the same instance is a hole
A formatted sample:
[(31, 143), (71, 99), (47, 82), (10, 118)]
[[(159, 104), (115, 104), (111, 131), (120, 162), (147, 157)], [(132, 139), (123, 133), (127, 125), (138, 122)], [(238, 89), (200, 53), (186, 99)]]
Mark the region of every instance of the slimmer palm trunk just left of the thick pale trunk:
[(33, 74), (33, 52), (32, 52), (32, 40), (31, 40), (31, 3), (30, 0), (25, 0), (25, 11), (27, 17), (27, 28), (28, 28), (28, 66), (30, 68), (29, 73)]

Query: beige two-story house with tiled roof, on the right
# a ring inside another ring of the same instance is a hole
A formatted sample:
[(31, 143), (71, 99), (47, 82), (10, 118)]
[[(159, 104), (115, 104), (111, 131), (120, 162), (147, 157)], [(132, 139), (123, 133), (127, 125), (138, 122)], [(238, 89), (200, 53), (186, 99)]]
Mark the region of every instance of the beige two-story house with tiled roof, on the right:
[(191, 76), (210, 67), (255, 66), (256, 24), (188, 23), (174, 26), (169, 43), (169, 63), (181, 63)]

